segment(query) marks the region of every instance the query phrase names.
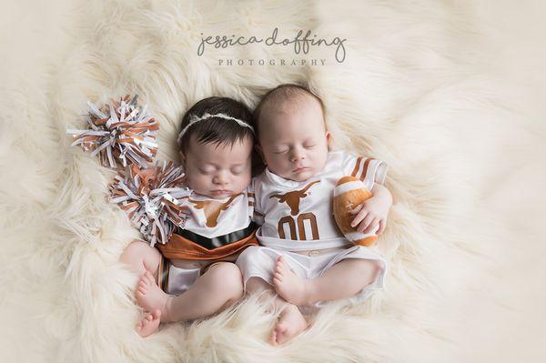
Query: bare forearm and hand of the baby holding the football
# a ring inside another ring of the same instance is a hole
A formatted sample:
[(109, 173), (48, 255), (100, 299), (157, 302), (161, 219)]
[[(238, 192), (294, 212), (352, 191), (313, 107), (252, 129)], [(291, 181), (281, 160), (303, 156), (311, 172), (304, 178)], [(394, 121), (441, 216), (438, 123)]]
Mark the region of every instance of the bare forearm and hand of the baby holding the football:
[(387, 217), (389, 209), (392, 205), (392, 195), (389, 189), (378, 183), (374, 183), (371, 188), (373, 197), (370, 197), (364, 203), (352, 210), (352, 214), (356, 215), (351, 222), (351, 227), (357, 227), (361, 233), (370, 233), (379, 224), (378, 236), (383, 233), (387, 226)]

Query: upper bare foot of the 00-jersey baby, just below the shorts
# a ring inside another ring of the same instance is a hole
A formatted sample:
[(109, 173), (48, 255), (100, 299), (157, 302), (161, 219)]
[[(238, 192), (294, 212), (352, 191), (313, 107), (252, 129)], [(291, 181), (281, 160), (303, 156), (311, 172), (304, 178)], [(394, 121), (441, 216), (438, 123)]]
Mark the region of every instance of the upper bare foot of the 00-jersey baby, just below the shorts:
[(298, 307), (309, 305), (308, 280), (298, 277), (288, 267), (284, 257), (278, 257), (273, 274), (273, 286), (278, 295)]

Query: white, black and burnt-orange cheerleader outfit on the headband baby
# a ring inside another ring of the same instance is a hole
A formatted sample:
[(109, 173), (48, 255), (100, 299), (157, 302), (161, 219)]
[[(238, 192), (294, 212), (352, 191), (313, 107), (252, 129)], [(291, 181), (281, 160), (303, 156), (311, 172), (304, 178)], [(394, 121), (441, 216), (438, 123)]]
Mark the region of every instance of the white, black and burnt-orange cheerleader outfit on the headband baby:
[(252, 222), (254, 194), (248, 189), (225, 199), (192, 193), (182, 200), (187, 207), (183, 227), (177, 227), (167, 244), (156, 247), (163, 256), (158, 285), (167, 294), (187, 290), (207, 267), (219, 261), (235, 262), (248, 246), (257, 246)]

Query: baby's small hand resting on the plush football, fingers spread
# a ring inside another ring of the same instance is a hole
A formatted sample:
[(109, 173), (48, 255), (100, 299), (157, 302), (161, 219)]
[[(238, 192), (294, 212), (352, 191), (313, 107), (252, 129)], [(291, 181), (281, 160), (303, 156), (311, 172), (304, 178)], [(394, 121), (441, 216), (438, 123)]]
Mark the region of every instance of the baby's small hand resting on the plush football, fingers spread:
[(356, 215), (350, 227), (356, 228), (360, 233), (368, 234), (379, 225), (379, 230), (377, 231), (377, 235), (379, 236), (387, 226), (389, 208), (390, 203), (388, 199), (370, 197), (350, 212), (353, 216)]

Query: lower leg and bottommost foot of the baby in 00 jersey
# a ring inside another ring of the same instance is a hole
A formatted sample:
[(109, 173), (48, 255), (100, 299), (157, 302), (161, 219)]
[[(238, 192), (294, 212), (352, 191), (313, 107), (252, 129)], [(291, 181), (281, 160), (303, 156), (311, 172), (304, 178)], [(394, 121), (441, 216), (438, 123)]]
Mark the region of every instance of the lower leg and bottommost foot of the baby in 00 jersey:
[[(271, 286), (260, 277), (250, 277), (247, 282), (247, 290), (250, 293), (270, 291), (274, 293)], [(308, 327), (307, 320), (301, 315), (299, 308), (276, 296), (273, 301), (275, 310), (280, 310), (278, 322), (271, 331), (269, 342), (273, 345), (286, 343), (295, 338)]]

